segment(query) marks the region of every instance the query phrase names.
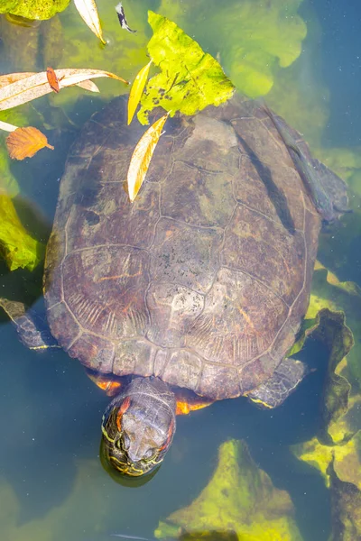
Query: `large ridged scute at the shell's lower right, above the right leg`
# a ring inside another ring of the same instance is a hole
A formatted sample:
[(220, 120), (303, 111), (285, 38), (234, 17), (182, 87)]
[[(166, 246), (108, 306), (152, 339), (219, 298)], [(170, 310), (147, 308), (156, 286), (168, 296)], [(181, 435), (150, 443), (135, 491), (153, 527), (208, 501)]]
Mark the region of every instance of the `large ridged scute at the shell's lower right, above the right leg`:
[(221, 269), (186, 345), (210, 362), (241, 366), (270, 347), (287, 314), (288, 307), (264, 285)]

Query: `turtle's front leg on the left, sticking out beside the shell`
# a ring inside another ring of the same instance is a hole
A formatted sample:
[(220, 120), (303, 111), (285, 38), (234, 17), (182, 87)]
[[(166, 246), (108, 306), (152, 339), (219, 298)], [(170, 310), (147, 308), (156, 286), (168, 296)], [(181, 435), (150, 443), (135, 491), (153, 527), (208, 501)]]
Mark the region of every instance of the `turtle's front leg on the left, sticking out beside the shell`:
[(36, 315), (32, 310), (26, 310), (23, 302), (0, 298), (0, 307), (10, 317), (23, 345), (40, 351), (50, 347), (60, 347), (51, 336), (45, 318)]

